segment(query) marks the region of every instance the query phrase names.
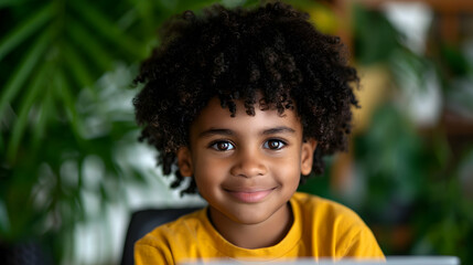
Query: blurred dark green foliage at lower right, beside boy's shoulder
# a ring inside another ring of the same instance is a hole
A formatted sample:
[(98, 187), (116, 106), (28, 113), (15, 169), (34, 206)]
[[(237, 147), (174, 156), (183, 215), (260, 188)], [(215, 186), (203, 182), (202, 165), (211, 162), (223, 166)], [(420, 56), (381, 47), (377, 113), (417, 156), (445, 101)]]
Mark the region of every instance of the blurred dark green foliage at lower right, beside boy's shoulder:
[[(355, 146), (356, 180), (367, 189), (358, 211), (389, 231), (379, 236), (386, 254), (454, 255), (471, 264), (473, 200), (461, 189), (459, 170), (473, 160), (455, 161), (442, 131), (421, 135), (389, 105)], [(406, 227), (406, 239), (395, 242)]]

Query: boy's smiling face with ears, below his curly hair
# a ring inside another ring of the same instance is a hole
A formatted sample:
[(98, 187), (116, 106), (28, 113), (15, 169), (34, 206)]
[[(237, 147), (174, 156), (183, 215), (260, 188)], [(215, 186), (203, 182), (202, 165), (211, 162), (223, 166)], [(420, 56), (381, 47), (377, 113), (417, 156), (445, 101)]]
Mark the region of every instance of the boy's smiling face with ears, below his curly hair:
[(257, 224), (288, 212), (301, 173), (312, 169), (316, 142), (303, 141), (293, 110), (281, 116), (256, 104), (250, 116), (236, 104), (230, 117), (217, 98), (209, 100), (191, 126), (191, 147), (178, 152), (179, 167), (195, 178), (214, 222)]

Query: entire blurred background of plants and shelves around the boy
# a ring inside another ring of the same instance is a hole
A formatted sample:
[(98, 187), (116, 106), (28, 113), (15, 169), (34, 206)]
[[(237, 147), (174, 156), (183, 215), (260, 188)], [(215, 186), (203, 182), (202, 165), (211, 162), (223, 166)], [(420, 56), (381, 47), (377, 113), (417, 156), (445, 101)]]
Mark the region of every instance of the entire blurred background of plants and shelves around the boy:
[[(350, 151), (300, 190), (354, 209), (386, 255), (473, 264), (473, 1), (287, 2), (362, 76)], [(132, 212), (204, 203), (138, 142), (131, 82), (165, 19), (212, 3), (258, 1), (0, 1), (0, 263), (118, 264)]]

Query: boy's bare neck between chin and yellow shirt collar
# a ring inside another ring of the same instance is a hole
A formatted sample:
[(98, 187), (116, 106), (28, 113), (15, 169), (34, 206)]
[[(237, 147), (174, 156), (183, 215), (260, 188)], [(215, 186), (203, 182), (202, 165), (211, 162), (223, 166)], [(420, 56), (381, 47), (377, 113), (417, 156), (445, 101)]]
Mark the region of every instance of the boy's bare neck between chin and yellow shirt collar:
[(293, 223), (290, 203), (279, 209), (268, 220), (258, 224), (236, 223), (209, 206), (208, 219), (225, 240), (243, 248), (261, 248), (278, 244)]

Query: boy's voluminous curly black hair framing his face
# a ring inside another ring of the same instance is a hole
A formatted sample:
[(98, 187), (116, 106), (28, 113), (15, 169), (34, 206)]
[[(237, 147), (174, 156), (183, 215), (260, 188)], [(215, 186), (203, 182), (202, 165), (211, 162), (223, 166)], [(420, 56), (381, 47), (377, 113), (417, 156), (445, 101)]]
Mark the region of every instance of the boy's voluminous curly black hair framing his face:
[[(191, 124), (213, 97), (232, 116), (235, 100), (254, 115), (258, 95), (279, 114), (295, 109), (304, 139), (319, 142), (315, 174), (323, 172), (323, 156), (346, 150), (359, 80), (340, 38), (322, 34), (308, 19), (281, 2), (233, 10), (213, 6), (202, 15), (186, 11), (162, 28), (161, 45), (135, 81), (144, 86), (133, 104), (143, 126), (140, 140), (158, 149), (164, 174), (176, 176), (171, 188), (184, 179), (176, 151), (189, 145)], [(195, 193), (194, 180), (182, 189)]]

